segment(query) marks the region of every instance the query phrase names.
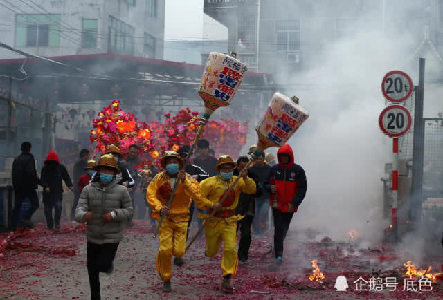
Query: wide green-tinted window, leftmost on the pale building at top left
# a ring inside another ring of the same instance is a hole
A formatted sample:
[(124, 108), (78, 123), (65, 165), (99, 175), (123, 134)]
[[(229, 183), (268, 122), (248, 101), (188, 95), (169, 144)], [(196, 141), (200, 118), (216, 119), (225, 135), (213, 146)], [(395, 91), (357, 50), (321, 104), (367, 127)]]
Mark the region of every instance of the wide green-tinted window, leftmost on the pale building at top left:
[(60, 46), (60, 15), (15, 16), (15, 46)]

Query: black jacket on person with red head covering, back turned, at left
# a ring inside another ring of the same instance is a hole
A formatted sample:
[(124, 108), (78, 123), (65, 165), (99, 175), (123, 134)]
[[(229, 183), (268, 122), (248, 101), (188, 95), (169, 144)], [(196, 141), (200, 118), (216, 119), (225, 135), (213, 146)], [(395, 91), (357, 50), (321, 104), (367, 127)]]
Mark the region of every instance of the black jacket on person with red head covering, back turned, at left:
[(49, 193), (43, 193), (43, 202), (47, 200), (62, 200), (63, 198), (63, 182), (67, 187), (73, 187), (71, 177), (68, 170), (62, 164), (45, 165), (42, 167), (42, 180), (48, 184)]

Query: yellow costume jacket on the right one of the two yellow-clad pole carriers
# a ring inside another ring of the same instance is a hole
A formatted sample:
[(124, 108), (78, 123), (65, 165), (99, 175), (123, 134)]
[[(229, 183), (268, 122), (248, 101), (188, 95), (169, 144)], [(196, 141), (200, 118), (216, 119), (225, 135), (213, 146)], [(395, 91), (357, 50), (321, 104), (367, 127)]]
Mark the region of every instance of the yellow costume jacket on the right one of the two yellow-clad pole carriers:
[[(229, 181), (224, 180), (221, 176), (213, 176), (210, 178), (206, 178), (205, 180), (200, 182), (201, 194), (204, 198), (210, 200), (211, 203), (217, 203), (221, 196), (223, 196), (224, 192), (233, 184), (233, 182), (237, 179), (237, 176), (233, 176)], [(235, 200), (232, 205), (228, 207), (224, 207), (224, 210), (234, 210), (238, 205), (238, 199), (240, 198), (240, 193), (245, 194), (255, 194), (255, 186), (254, 180), (249, 177), (246, 177), (246, 180), (240, 178), (237, 182), (237, 185), (233, 188), (235, 193)], [(199, 218), (206, 218), (204, 214), (198, 214)], [(241, 219), (241, 216), (233, 216), (230, 218)], [(230, 219), (228, 218), (228, 219)]]

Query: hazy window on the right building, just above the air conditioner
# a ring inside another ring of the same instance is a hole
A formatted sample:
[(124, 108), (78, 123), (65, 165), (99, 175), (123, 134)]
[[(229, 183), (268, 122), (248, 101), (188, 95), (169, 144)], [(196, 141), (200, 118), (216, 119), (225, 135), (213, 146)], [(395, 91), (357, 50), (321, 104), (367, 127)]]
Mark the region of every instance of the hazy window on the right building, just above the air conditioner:
[(277, 21), (277, 50), (300, 50), (300, 20)]

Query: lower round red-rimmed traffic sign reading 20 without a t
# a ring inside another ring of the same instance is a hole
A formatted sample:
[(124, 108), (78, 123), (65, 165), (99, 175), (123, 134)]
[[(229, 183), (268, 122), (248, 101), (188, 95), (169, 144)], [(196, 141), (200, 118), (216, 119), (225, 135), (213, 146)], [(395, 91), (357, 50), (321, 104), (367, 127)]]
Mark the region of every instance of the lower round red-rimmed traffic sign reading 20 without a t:
[(379, 126), (384, 134), (391, 138), (398, 138), (409, 131), (412, 120), (406, 107), (395, 104), (381, 111)]

